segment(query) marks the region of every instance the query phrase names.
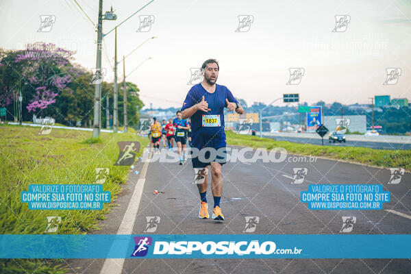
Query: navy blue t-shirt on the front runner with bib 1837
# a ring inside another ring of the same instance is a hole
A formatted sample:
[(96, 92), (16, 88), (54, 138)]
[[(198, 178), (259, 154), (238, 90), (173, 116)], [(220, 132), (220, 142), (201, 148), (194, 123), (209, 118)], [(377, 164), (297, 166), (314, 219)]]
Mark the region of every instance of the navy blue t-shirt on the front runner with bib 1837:
[[(216, 90), (213, 93), (208, 92), (200, 84), (192, 86), (188, 91), (186, 99), (184, 100), (182, 111), (186, 108), (190, 108), (196, 103), (199, 103), (204, 96), (204, 100), (208, 103), (208, 112), (197, 110), (195, 114), (191, 116), (191, 132), (192, 135), (201, 134), (207, 138), (223, 138), (225, 140), (224, 132), (224, 108), (227, 106), (225, 99), (229, 102), (238, 103), (236, 98), (232, 95), (232, 92), (226, 86), (216, 84)], [(220, 127), (203, 127), (203, 114), (204, 115), (219, 115), (221, 118)]]

